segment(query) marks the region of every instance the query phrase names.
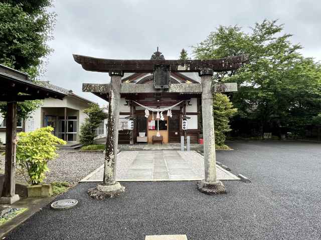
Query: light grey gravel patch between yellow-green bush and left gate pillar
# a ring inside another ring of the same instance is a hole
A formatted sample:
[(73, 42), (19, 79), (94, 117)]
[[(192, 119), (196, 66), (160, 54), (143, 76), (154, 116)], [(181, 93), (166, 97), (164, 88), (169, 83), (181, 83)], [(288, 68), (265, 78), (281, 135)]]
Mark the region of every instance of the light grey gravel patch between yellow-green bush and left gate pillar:
[[(48, 162), (50, 172), (46, 173), (45, 182), (67, 181), (75, 184), (104, 163), (102, 152), (59, 149), (57, 153), (58, 158)], [(0, 159), (0, 166), (3, 164), (4, 157)], [(19, 171), (17, 171), (16, 179), (25, 180)]]

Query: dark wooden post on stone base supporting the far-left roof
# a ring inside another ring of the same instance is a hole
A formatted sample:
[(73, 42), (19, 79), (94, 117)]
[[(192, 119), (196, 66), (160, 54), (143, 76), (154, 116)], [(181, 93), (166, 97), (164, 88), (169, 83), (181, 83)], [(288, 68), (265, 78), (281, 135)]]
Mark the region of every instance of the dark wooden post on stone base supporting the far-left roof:
[(0, 203), (12, 204), (19, 200), (16, 190), (16, 134), (17, 134), (17, 102), (7, 103), (6, 116), (6, 163), (5, 182)]

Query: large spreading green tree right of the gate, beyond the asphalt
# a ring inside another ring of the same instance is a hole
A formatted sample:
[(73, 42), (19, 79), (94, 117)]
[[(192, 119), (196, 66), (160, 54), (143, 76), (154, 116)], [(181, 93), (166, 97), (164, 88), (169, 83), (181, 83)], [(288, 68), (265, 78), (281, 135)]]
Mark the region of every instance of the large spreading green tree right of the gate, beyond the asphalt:
[[(231, 100), (238, 118), (256, 121), (260, 135), (271, 122), (299, 131), (320, 110), (320, 65), (304, 58), (302, 47), (282, 34), (283, 25), (264, 20), (250, 32), (238, 26), (220, 26), (196, 47), (197, 59), (248, 54), (249, 62), (237, 71), (215, 75), (222, 82), (237, 82)], [(292, 121), (293, 120), (293, 121)]]

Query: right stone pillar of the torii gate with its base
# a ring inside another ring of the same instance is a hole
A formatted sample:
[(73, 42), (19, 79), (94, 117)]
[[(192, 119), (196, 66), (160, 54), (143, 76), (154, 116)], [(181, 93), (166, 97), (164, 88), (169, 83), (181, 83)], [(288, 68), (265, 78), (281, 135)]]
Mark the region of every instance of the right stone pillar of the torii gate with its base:
[(216, 178), (215, 133), (213, 118), (212, 69), (199, 72), (202, 83), (202, 118), (204, 139), (205, 178), (197, 184), (197, 188), (206, 194), (226, 193), (225, 186)]

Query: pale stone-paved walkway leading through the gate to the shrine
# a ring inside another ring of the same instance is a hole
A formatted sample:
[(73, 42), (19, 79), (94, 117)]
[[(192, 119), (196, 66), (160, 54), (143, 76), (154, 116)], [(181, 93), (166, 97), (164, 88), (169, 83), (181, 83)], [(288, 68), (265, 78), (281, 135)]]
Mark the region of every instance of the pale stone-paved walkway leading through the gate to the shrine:
[[(217, 165), (219, 180), (239, 180)], [(102, 181), (104, 165), (81, 180)], [(117, 181), (182, 181), (204, 179), (204, 158), (201, 154), (175, 150), (123, 151), (118, 154)]]

